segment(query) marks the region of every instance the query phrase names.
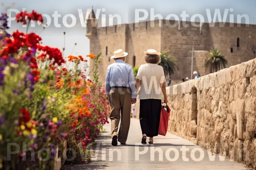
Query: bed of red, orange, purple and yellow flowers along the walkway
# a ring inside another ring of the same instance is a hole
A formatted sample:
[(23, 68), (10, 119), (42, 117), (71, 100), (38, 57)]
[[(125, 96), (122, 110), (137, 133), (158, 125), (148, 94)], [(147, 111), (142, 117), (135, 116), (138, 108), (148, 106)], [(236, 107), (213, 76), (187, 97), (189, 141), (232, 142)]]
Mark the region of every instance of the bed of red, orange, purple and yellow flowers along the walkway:
[[(85, 161), (87, 146), (109, 114), (102, 86), (79, 68), (87, 60), (69, 56), (67, 64), (62, 52), (42, 46), (37, 34), (10, 35), (7, 15), (0, 20), (0, 169), (54, 169), (56, 155)], [(35, 11), (21, 12), (16, 20), (27, 26), (43, 22)], [(70, 149), (62, 156), (65, 141)]]

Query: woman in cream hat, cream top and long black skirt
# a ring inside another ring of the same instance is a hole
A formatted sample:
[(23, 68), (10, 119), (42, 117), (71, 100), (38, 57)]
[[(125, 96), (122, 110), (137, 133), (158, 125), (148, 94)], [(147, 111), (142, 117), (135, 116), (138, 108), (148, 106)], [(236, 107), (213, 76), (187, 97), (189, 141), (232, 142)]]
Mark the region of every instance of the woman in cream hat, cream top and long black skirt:
[(137, 74), (137, 92), (140, 88), (140, 127), (142, 130), (142, 144), (153, 144), (153, 137), (158, 135), (160, 113), (162, 107), (162, 93), (164, 102), (168, 103), (166, 95), (166, 79), (160, 62), (160, 54), (154, 49), (144, 52), (146, 64), (140, 65)]

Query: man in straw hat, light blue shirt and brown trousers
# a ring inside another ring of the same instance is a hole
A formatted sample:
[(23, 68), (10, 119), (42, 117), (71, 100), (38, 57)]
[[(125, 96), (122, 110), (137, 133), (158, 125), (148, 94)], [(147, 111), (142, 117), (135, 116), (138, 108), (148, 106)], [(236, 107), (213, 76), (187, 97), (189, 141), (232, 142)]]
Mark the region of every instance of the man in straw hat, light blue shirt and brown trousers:
[[(108, 66), (106, 76), (106, 93), (111, 106), (111, 138), (112, 145), (117, 140), (125, 144), (130, 128), (131, 103), (136, 103), (136, 87), (134, 73), (131, 65), (124, 62), (128, 53), (122, 49), (114, 51), (111, 59), (115, 62)], [(122, 116), (119, 132), (120, 113)]]

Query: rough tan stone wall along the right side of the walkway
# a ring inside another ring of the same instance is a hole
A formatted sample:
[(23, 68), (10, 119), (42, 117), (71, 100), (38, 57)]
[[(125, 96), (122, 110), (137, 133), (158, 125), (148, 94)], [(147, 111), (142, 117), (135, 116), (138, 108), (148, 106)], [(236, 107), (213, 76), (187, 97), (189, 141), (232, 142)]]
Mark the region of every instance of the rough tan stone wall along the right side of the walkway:
[(256, 168), (256, 59), (167, 90), (170, 133)]

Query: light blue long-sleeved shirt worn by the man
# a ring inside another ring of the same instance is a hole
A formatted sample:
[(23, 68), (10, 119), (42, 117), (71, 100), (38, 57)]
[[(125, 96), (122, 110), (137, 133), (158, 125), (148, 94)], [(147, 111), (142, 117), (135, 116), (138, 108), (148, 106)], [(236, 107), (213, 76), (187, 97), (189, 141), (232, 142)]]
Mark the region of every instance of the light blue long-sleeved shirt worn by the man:
[(136, 98), (136, 86), (133, 69), (131, 65), (117, 59), (116, 62), (108, 66), (106, 76), (106, 93), (109, 97), (110, 87), (125, 86), (131, 89), (131, 98)]

